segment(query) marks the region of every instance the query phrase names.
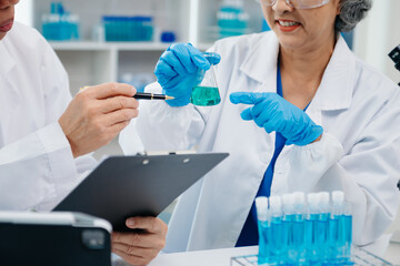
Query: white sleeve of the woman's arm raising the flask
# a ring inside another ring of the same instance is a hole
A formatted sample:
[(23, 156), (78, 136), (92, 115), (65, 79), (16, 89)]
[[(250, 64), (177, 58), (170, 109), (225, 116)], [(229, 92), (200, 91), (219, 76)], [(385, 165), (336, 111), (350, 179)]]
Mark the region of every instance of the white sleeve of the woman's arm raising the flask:
[[(162, 89), (156, 82), (146, 91), (160, 93)], [(138, 143), (142, 143), (146, 151), (190, 150), (198, 143), (204, 126), (203, 114), (192, 104), (172, 108), (164, 101), (141, 101), (139, 116), (122, 131), (120, 144), (126, 154), (134, 154), (141, 146)]]

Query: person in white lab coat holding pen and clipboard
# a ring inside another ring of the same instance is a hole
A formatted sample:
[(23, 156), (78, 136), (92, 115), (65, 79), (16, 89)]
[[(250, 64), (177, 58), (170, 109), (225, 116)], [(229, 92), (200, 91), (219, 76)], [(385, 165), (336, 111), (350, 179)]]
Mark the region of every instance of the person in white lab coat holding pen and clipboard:
[[(134, 88), (91, 86), (72, 101), (66, 70), (33, 29), (13, 23), (18, 0), (0, 0), (0, 211), (51, 211), (92, 170), (88, 154), (138, 115)], [(132, 224), (133, 223), (133, 224)], [(163, 247), (167, 225), (133, 217), (112, 250), (134, 265)]]

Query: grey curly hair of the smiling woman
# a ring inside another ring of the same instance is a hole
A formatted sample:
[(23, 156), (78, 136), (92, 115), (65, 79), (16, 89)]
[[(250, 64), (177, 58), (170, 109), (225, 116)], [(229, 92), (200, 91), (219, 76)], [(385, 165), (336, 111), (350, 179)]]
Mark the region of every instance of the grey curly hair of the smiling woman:
[(339, 32), (351, 31), (372, 7), (372, 0), (340, 0), (340, 14), (334, 29)]

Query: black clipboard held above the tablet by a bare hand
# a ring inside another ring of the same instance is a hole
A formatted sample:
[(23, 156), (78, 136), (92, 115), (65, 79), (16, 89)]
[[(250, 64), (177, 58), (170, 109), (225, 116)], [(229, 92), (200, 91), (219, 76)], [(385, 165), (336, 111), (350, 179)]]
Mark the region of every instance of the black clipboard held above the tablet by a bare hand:
[(113, 156), (104, 160), (53, 212), (80, 212), (129, 231), (126, 218), (157, 216), (228, 153)]

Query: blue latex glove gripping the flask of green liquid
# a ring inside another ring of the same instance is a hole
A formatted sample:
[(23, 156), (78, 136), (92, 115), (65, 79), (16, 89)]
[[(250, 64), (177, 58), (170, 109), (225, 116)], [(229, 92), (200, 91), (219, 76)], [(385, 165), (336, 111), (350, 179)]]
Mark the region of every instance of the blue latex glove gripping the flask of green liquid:
[[(221, 58), (211, 60), (211, 63), (218, 64)], [(169, 47), (154, 70), (163, 93), (174, 98), (166, 102), (171, 106), (187, 105), (193, 86), (201, 83), (210, 66), (210, 62), (190, 43), (176, 43)]]

